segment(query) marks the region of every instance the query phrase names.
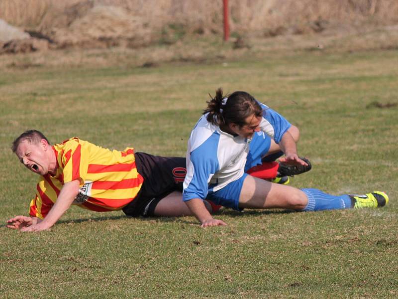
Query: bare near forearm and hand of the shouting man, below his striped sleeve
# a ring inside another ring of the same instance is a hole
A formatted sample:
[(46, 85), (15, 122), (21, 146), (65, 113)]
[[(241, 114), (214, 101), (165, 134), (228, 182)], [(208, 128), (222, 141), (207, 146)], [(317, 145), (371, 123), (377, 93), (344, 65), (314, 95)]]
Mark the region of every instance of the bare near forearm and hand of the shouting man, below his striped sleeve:
[(23, 232), (32, 232), (32, 231), (41, 231), (46, 230), (52, 227), (59, 218), (65, 213), (67, 209), (71, 206), (73, 201), (75, 200), (76, 196), (79, 193), (79, 180), (73, 180), (67, 182), (61, 189), (59, 196), (48, 212), (47, 216), (41, 222), (36, 224), (23, 227), (21, 231)]

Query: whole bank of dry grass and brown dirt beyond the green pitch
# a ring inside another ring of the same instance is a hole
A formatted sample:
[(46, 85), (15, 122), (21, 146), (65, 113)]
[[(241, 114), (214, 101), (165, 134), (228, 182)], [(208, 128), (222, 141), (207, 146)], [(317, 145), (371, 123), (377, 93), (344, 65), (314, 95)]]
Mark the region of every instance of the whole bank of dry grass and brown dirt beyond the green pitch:
[[(151, 66), (252, 57), (279, 50), (398, 48), (397, 0), (229, 3), (231, 42), (243, 39), (232, 46), (221, 42), (222, 0), (1, 0), (0, 18), (42, 36), (10, 44), (8, 49), (1, 50), (0, 45), (0, 53), (35, 52), (28, 57), (0, 55), (0, 67)], [(78, 50), (44, 51), (71, 47)]]

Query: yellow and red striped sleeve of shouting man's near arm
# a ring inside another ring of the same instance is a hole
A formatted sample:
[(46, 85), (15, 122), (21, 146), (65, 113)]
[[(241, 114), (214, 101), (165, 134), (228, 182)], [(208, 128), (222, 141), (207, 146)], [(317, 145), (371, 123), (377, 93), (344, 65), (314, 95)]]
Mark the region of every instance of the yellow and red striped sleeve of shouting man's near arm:
[(63, 167), (63, 182), (79, 180), (84, 184), (87, 174), (88, 150), (77, 139), (70, 139), (65, 143), (61, 154), (61, 165)]

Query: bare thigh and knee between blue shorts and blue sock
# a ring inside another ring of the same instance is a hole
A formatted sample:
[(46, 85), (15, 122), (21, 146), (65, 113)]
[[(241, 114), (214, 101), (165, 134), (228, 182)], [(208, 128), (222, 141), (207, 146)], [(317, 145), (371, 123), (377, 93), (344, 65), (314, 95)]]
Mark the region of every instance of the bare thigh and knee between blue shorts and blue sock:
[(283, 208), (302, 210), (308, 203), (301, 190), (248, 175), (239, 196), (239, 207), (252, 209)]

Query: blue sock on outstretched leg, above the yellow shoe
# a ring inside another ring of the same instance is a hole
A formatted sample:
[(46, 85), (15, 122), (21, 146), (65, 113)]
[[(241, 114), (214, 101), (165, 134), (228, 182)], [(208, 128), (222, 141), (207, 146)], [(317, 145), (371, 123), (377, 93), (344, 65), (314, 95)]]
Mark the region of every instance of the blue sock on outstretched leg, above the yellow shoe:
[(308, 198), (308, 204), (303, 211), (322, 211), (351, 208), (351, 198), (348, 195), (334, 196), (318, 189), (301, 189)]

